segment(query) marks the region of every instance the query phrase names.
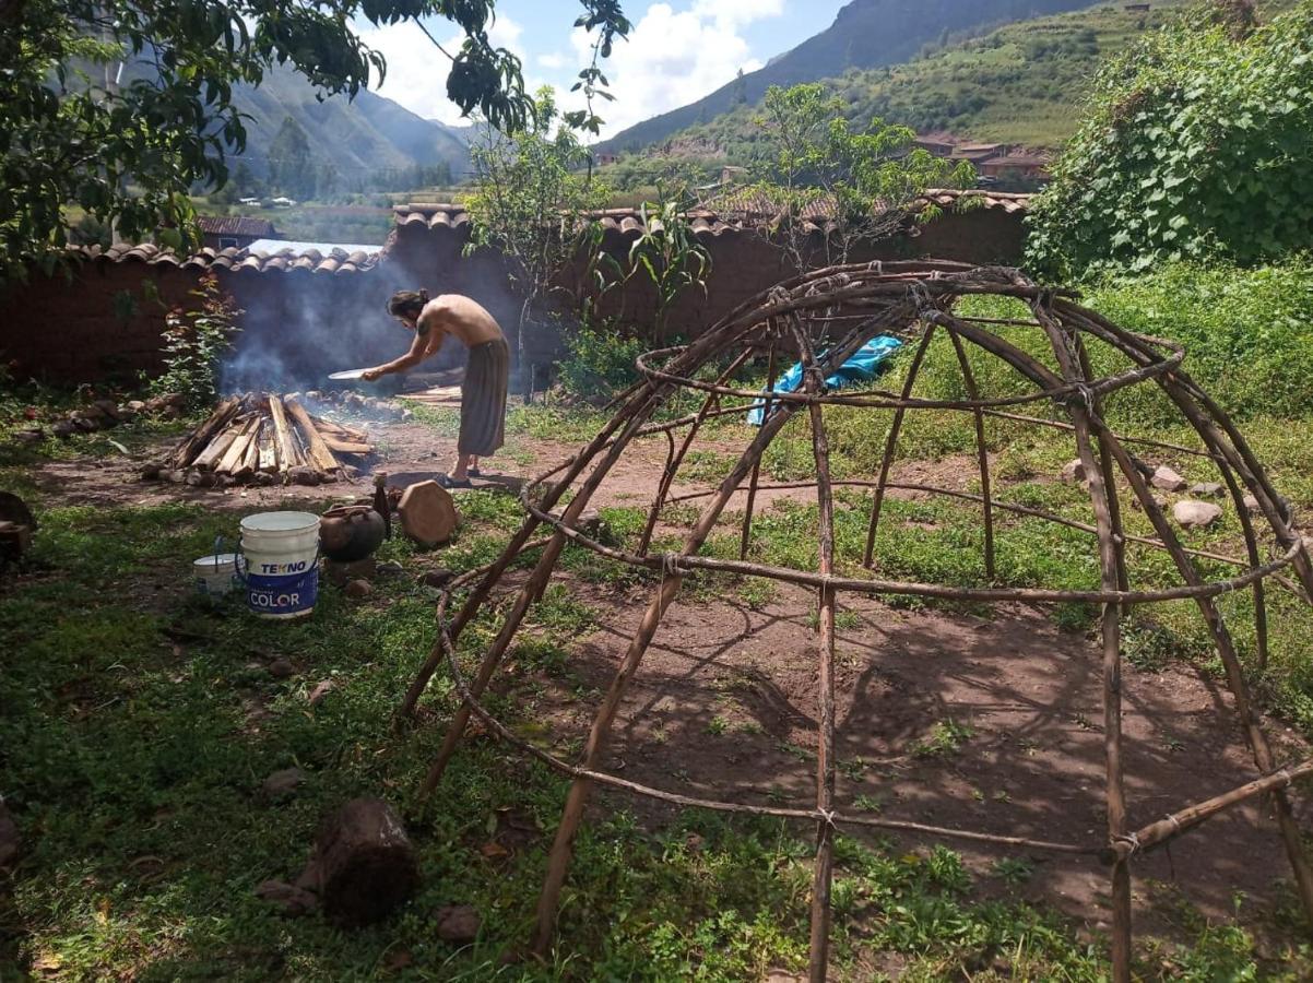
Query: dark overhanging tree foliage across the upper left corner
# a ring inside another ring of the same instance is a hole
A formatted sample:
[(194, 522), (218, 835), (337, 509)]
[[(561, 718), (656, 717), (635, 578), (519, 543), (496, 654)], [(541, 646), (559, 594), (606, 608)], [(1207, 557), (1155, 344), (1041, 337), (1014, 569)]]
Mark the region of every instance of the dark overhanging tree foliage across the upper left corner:
[[(495, 126), (523, 127), (533, 98), (519, 59), (488, 39), (494, 4), (0, 0), (0, 282), (35, 260), (54, 266), (70, 203), (127, 239), (160, 228), (171, 245), (193, 238), (189, 189), (222, 186), (225, 154), (246, 144), (234, 87), (290, 63), (320, 94), (355, 96), (386, 68), (356, 24), (454, 22), (465, 38), (449, 55), (448, 97)], [(596, 133), (593, 98), (609, 97), (599, 59), (630, 25), (620, 0), (580, 4), (575, 24), (593, 38), (593, 59), (576, 85), (587, 108), (567, 119)]]

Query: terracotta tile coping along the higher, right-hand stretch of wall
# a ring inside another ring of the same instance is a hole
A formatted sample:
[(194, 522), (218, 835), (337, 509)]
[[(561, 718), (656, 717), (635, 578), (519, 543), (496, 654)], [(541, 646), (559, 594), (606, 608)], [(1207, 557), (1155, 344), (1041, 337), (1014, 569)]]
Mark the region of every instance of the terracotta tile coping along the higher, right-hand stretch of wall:
[[(955, 206), (962, 198), (979, 198), (985, 209), (998, 209), (1004, 213), (1024, 211), (1031, 199), (1028, 194), (1006, 194), (990, 190), (955, 190), (935, 188), (913, 202), (911, 210), (918, 211), (927, 203), (939, 207)], [(462, 230), (470, 223), (470, 215), (462, 205), (448, 202), (412, 202), (410, 205), (397, 205), (393, 207), (398, 228), (429, 228), (429, 230)], [(819, 227), (821, 220), (832, 215), (834, 206), (826, 201), (817, 201), (804, 210), (804, 219), (810, 219)], [(692, 220), (693, 231), (697, 235), (722, 235), (725, 232), (739, 232), (744, 228), (756, 228), (763, 219), (773, 218), (779, 214), (779, 205), (772, 203), (767, 197), (750, 194), (743, 189), (729, 189), (722, 196), (716, 196), (692, 209), (688, 215)], [(607, 232), (616, 232), (624, 236), (639, 235), (643, 228), (642, 214), (638, 209), (607, 209), (592, 213), (592, 218), (600, 222)]]

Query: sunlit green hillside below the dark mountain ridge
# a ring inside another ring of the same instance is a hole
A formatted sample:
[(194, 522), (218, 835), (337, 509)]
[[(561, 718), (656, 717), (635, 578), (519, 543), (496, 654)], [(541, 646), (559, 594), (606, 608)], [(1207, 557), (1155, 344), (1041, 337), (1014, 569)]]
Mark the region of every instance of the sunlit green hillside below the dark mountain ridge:
[[(936, 46), (910, 62), (852, 70), (825, 81), (856, 125), (872, 117), (918, 133), (943, 133), (1032, 148), (1058, 147), (1075, 129), (1086, 85), (1100, 60), (1179, 16), (1188, 0), (1158, 0), (1148, 12), (1103, 4), (1008, 24)], [(1260, 13), (1288, 0), (1258, 4)], [(741, 105), (650, 144), (647, 154), (746, 163), (756, 156), (756, 106)]]

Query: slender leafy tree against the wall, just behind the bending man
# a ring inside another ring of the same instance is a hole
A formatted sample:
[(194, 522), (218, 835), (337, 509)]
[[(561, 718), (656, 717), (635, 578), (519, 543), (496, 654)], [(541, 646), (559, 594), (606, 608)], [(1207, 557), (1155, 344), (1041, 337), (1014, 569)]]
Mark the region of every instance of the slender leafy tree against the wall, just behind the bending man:
[(470, 147), (474, 193), (466, 202), (471, 220), (466, 252), (491, 247), (509, 265), (521, 299), (516, 349), (528, 398), (525, 332), (551, 315), (549, 302), (580, 251), (596, 253), (588, 236), (599, 226), (588, 213), (604, 207), (609, 192), (583, 169), (588, 150), (558, 121), (550, 88), (538, 89), (533, 112), (513, 139), (491, 126), (477, 127), (477, 134)]

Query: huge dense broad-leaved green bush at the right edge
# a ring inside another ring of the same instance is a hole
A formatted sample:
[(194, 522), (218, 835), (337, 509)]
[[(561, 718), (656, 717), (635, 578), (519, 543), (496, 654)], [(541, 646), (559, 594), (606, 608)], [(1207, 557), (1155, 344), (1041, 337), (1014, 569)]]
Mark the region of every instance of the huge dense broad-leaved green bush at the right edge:
[(1233, 8), (1159, 31), (1099, 72), (1032, 211), (1035, 265), (1065, 276), (1209, 256), (1251, 264), (1308, 247), (1313, 0), (1247, 34)]

